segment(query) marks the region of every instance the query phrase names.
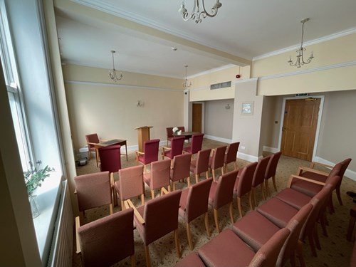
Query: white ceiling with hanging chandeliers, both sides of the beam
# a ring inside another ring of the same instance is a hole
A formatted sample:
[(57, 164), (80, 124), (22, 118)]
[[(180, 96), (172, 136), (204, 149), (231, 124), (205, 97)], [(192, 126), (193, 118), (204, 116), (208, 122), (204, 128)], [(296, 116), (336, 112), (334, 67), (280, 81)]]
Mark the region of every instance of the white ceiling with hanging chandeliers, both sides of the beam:
[[(356, 32), (355, 0), (221, 0), (218, 14), (198, 24), (183, 21), (178, 13), (181, 1), (69, 1), (248, 60), (286, 50), (294, 56), (295, 48), (300, 46), (300, 21), (307, 17), (310, 18), (304, 31), (307, 49), (308, 44), (324, 38)], [(192, 2), (185, 1), (189, 12)], [(205, 2), (210, 7), (215, 0)], [(132, 27), (98, 20), (66, 5), (56, 4), (56, 7), (63, 63), (112, 68), (110, 51), (115, 50), (118, 70), (174, 78), (184, 78), (185, 65), (192, 76), (237, 63), (232, 56), (217, 56), (199, 46), (194, 48), (194, 44), (187, 46), (172, 38), (153, 36), (149, 31), (142, 33)]]

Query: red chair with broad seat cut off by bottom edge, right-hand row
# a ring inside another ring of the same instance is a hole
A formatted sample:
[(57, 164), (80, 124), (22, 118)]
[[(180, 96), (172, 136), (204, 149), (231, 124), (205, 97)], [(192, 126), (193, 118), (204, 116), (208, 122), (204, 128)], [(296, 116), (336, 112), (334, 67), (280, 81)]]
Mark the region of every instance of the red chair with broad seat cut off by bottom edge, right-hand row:
[(237, 236), (225, 229), (199, 248), (198, 254), (207, 266), (276, 266), (278, 255), (290, 231), (283, 228), (274, 234), (256, 253)]

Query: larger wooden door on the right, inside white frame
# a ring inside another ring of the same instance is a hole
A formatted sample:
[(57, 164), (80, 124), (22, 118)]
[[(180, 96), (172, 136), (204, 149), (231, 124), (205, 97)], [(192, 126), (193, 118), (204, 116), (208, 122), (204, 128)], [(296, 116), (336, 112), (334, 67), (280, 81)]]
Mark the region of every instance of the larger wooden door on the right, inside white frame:
[(282, 128), (283, 155), (312, 160), (320, 98), (286, 100)]

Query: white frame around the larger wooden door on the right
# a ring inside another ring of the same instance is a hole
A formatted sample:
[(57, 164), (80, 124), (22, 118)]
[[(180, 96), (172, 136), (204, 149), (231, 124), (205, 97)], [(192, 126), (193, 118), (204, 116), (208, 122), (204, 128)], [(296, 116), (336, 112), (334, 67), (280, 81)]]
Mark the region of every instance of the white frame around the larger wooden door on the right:
[(281, 125), (279, 127), (280, 129), (279, 129), (279, 137), (278, 137), (278, 139), (279, 139), (278, 140), (278, 151), (281, 151), (282, 128), (283, 128), (283, 123), (284, 123), (284, 110), (286, 109), (286, 100), (297, 100), (297, 99), (306, 99), (306, 98), (320, 98), (318, 124), (316, 126), (314, 149), (313, 149), (313, 156), (312, 156), (312, 161), (314, 162), (315, 161), (315, 157), (316, 157), (316, 150), (318, 149), (320, 124), (321, 124), (321, 118), (323, 117), (323, 108), (324, 108), (325, 95), (308, 95), (308, 96), (300, 96), (300, 97), (283, 98), (282, 112), (281, 112)]

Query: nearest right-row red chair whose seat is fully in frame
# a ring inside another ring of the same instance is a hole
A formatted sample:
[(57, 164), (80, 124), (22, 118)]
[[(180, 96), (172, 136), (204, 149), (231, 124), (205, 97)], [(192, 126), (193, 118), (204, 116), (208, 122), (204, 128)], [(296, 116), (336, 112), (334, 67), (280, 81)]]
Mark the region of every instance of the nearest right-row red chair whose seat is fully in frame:
[[(288, 221), (286, 228), (290, 230), (290, 236), (281, 249), (276, 266), (284, 266), (288, 259), (291, 265), (295, 266), (295, 251), (298, 248), (300, 231), (312, 208), (312, 204), (306, 204)], [(280, 228), (258, 211), (251, 211), (244, 218), (236, 221), (232, 230), (254, 251), (258, 251)]]

